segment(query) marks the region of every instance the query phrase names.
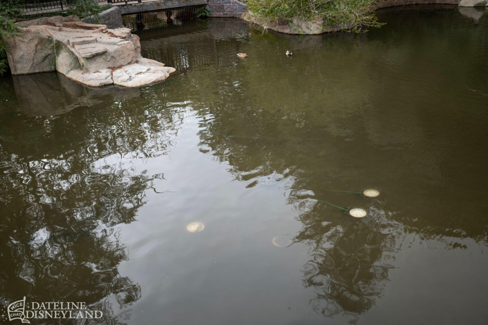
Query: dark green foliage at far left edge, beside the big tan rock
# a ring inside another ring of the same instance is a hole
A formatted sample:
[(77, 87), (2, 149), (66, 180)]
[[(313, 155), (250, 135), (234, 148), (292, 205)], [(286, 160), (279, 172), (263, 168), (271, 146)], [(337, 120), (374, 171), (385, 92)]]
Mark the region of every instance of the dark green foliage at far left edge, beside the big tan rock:
[(14, 18), (21, 14), (18, 4), (17, 0), (0, 1), (0, 75), (8, 66), (6, 40), (19, 35), (19, 27), (14, 24)]

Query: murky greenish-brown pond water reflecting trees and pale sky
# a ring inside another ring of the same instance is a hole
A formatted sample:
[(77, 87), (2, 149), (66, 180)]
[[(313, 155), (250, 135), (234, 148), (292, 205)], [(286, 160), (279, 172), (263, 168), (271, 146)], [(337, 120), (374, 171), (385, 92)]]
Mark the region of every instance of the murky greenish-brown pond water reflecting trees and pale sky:
[(485, 324), (488, 15), (378, 16), (360, 35), (143, 30), (142, 55), (178, 69), (153, 86), (0, 79), (1, 303), (86, 302), (100, 324)]

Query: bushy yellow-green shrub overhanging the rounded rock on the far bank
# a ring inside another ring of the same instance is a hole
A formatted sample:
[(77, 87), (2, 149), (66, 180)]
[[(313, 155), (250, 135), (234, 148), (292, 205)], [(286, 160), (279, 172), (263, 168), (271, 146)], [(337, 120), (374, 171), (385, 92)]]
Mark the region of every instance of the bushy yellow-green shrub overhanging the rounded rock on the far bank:
[(286, 24), (293, 18), (338, 25), (360, 32), (366, 26), (380, 26), (371, 5), (376, 0), (247, 0), (249, 10), (264, 22)]

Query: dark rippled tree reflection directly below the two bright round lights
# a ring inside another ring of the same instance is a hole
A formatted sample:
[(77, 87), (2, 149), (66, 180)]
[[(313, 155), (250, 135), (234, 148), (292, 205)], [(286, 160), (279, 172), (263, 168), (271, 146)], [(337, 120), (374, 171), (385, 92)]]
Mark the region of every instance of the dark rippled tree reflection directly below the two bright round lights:
[[(310, 202), (308, 202), (310, 204)], [(313, 210), (313, 208), (312, 208)], [(313, 211), (302, 215), (304, 228), (294, 242), (305, 243), (312, 258), (303, 267), (305, 287), (317, 297), (310, 303), (324, 316), (358, 315), (382, 296), (388, 281), (390, 254), (397, 251), (399, 224), (382, 211), (370, 208), (369, 216), (349, 223), (322, 223)]]

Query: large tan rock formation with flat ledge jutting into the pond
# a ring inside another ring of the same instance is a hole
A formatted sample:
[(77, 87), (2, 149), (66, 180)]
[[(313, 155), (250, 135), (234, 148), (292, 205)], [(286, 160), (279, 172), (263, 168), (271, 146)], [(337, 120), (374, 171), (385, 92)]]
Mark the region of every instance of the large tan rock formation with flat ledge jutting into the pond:
[(91, 87), (140, 87), (163, 81), (176, 71), (141, 56), (141, 43), (129, 28), (48, 17), (18, 22), (21, 37), (8, 41), (13, 75), (58, 71)]

